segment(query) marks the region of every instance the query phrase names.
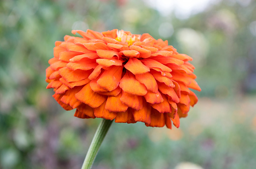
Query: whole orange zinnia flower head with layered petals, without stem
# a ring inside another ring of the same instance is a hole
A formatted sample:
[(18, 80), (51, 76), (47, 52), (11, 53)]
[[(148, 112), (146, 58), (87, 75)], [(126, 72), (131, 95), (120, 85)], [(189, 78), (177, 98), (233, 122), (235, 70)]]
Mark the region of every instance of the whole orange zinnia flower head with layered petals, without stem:
[(47, 88), (65, 110), (76, 108), (74, 116), (172, 128), (197, 103), (192, 58), (167, 40), (117, 29), (76, 32), (82, 37), (55, 42), (46, 69)]

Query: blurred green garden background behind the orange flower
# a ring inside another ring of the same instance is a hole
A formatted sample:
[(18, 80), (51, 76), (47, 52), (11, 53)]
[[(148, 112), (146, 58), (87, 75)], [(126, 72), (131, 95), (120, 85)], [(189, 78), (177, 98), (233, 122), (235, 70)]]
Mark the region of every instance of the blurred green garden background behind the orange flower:
[(0, 168), (81, 167), (100, 119), (63, 110), (45, 69), (56, 40), (88, 28), (167, 39), (194, 58), (202, 88), (179, 129), (113, 123), (93, 168), (255, 168), (255, 8), (255, 0), (1, 0)]

